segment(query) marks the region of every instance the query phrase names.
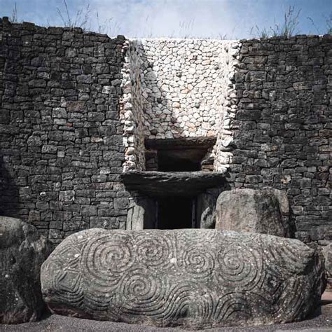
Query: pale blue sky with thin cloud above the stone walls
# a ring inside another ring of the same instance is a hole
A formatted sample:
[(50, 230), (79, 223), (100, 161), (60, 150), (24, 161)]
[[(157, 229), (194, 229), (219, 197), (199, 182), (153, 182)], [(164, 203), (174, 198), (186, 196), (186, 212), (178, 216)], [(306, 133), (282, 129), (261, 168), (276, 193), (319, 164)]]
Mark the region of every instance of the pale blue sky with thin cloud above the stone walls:
[[(76, 25), (86, 16), (85, 29), (131, 38), (251, 38), (264, 28), (282, 25), (289, 6), (294, 15), (300, 11), (296, 34), (324, 34), (328, 23), (332, 25), (332, 0), (66, 1)], [(19, 22), (63, 26), (60, 13), (68, 21), (64, 0), (0, 0), (0, 17), (11, 17), (15, 4)]]

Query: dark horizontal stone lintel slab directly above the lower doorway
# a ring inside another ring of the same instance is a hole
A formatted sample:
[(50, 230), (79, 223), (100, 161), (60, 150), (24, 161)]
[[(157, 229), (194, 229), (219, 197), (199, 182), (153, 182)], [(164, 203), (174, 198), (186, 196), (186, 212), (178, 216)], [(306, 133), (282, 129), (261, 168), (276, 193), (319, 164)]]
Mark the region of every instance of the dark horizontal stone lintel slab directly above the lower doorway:
[(130, 191), (146, 195), (197, 195), (207, 188), (223, 186), (223, 172), (144, 172), (128, 171), (122, 174), (123, 183)]

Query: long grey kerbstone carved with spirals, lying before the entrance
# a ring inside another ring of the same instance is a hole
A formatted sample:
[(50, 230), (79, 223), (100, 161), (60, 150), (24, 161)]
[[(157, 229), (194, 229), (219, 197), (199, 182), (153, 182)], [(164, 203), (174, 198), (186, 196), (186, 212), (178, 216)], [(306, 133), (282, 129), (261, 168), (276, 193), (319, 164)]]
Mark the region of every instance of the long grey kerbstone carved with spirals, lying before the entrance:
[(41, 268), (55, 314), (208, 328), (304, 319), (324, 290), (303, 242), (220, 230), (83, 230)]

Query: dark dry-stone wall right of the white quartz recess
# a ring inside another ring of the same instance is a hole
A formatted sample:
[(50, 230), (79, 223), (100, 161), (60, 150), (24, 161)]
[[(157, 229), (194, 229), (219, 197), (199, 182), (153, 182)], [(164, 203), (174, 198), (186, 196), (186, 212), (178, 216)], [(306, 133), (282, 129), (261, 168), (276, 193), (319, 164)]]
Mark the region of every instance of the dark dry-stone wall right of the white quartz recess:
[(325, 245), (332, 240), (332, 36), (241, 43), (229, 181), (285, 191), (294, 235)]

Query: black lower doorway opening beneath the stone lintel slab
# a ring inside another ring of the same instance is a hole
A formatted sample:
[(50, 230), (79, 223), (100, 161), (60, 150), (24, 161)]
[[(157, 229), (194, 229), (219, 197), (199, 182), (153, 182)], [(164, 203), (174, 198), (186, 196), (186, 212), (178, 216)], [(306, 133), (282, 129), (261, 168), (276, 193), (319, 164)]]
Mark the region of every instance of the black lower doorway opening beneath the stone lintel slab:
[(188, 197), (166, 197), (158, 199), (157, 227), (161, 230), (193, 228), (193, 204)]

